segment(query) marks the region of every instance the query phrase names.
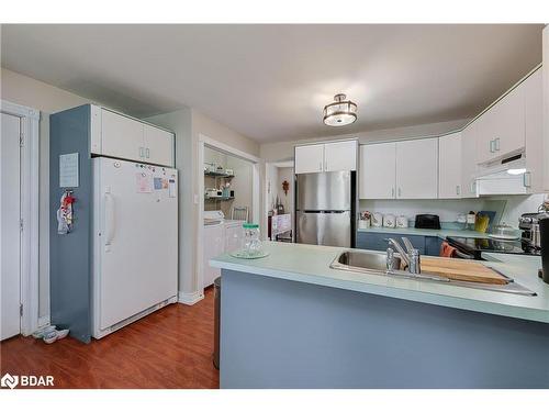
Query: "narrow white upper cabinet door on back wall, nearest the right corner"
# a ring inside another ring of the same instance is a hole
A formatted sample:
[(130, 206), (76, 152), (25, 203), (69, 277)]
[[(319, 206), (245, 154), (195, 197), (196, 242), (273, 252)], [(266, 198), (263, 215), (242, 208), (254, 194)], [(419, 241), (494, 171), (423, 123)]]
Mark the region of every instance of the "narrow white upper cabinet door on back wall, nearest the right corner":
[(461, 133), (438, 140), (438, 197), (461, 198)]

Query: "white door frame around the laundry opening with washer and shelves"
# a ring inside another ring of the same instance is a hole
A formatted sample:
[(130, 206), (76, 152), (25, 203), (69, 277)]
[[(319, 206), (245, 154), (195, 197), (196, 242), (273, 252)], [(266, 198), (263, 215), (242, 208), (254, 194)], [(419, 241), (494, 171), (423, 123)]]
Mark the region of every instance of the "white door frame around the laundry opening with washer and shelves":
[(260, 166), (261, 166), (261, 159), (257, 156), (250, 155), (246, 152), (239, 151), (237, 148), (234, 148), (229, 145), (226, 145), (225, 143), (219, 142), (216, 140), (213, 140), (202, 133), (199, 133), (199, 142), (198, 142), (198, 162), (197, 162), (197, 170), (195, 170), (195, 176), (198, 180), (198, 186), (197, 186), (197, 193), (195, 197), (198, 197), (198, 219), (195, 220), (197, 223), (197, 238), (199, 242), (197, 242), (197, 250), (195, 250), (195, 256), (194, 258), (197, 259), (197, 264), (194, 267), (197, 268), (197, 274), (194, 276), (194, 279), (197, 281), (197, 290), (200, 294), (200, 299), (204, 298), (204, 288), (202, 285), (204, 285), (203, 281), (203, 253), (204, 253), (204, 244), (202, 242), (203, 240), (203, 229), (204, 229), (204, 147), (210, 146), (216, 151), (226, 153), (227, 155), (239, 157), (244, 160), (247, 160), (251, 163), (251, 215), (254, 219), (260, 219), (260, 210), (261, 205), (260, 203)]

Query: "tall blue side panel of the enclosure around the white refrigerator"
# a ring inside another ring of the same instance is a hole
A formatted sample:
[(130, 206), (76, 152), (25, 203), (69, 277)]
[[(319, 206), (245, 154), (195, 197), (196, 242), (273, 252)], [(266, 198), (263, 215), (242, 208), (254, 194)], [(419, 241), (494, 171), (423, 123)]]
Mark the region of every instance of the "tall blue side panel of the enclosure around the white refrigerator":
[[(51, 322), (70, 329), (82, 342), (91, 338), (92, 170), (90, 105), (49, 116), (49, 292)], [(74, 188), (74, 230), (57, 233), (59, 155), (78, 153), (79, 187)]]

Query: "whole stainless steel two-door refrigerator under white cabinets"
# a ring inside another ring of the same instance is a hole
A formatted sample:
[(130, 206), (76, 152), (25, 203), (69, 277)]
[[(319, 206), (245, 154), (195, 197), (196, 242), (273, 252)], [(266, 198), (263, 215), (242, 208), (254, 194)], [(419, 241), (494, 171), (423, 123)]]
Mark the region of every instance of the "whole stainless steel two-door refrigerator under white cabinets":
[(355, 247), (356, 172), (295, 175), (296, 243)]

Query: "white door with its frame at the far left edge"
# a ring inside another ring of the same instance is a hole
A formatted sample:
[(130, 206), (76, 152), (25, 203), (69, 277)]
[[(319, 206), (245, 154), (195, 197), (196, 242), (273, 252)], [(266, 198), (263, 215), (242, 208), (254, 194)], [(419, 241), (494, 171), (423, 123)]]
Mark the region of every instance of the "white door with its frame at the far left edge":
[(0, 101), (0, 339), (38, 327), (40, 112)]

